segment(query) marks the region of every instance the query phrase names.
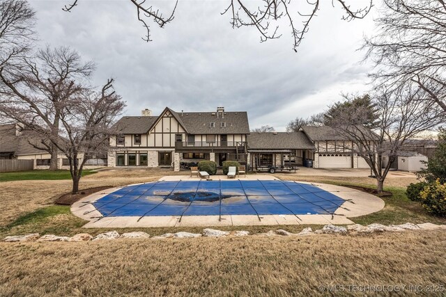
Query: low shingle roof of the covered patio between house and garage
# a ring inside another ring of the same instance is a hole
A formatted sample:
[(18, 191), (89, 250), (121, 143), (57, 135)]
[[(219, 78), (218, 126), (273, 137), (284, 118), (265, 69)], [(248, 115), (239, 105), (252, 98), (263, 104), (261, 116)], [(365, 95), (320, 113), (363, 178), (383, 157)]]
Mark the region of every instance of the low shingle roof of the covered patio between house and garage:
[(252, 133), (247, 138), (248, 150), (314, 150), (314, 145), (302, 132)]

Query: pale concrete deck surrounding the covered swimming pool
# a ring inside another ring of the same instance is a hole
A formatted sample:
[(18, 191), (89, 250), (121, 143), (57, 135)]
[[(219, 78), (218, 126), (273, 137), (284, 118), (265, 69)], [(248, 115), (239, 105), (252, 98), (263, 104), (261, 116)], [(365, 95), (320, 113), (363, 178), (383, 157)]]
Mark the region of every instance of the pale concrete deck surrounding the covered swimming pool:
[[(178, 180), (198, 180), (197, 177), (190, 177), (189, 175), (176, 175), (162, 177), (160, 181), (178, 181)], [(228, 180), (224, 175), (213, 175), (213, 180)], [(240, 180), (277, 180), (271, 175), (247, 175), (240, 177)], [(376, 211), (380, 211), (384, 207), (384, 201), (375, 195), (364, 193), (353, 188), (346, 188), (343, 186), (334, 186), (330, 184), (308, 183), (300, 182), (302, 184), (313, 184), (319, 188), (334, 193), (340, 198), (346, 200), (334, 216), (311, 214), (311, 215), (268, 215), (260, 216), (144, 216), (139, 219), (139, 216), (116, 216), (101, 218), (101, 214), (93, 207), (91, 202), (95, 202), (100, 198), (117, 191), (119, 188), (109, 188), (100, 193), (89, 195), (78, 202), (72, 204), (72, 214), (89, 220), (89, 223), (84, 225), (86, 228), (122, 228), (122, 227), (218, 227), (218, 226), (246, 226), (246, 225), (348, 225), (353, 224), (353, 221), (348, 218), (355, 216), (364, 216)], [(132, 185), (130, 185), (132, 186)], [(139, 220), (139, 221), (138, 221)]]

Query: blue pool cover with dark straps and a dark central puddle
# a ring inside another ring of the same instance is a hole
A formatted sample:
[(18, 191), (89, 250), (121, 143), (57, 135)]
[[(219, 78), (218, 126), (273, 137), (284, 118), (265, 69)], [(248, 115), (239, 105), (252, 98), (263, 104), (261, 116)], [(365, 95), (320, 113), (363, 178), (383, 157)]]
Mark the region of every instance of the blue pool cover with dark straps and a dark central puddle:
[(151, 182), (125, 186), (93, 205), (102, 216), (333, 214), (345, 202), (317, 186), (268, 181)]

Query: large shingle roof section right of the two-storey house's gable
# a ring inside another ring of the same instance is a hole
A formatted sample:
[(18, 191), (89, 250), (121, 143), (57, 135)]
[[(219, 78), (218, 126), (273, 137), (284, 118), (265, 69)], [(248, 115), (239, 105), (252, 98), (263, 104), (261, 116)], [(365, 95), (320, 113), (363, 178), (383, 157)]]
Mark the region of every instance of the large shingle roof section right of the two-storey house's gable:
[[(178, 118), (190, 134), (249, 134), (249, 122), (246, 111), (225, 111), (217, 118), (217, 113), (212, 112), (183, 112), (176, 113)], [(210, 123), (215, 127), (211, 128)], [(222, 123), (226, 127), (222, 128)]]

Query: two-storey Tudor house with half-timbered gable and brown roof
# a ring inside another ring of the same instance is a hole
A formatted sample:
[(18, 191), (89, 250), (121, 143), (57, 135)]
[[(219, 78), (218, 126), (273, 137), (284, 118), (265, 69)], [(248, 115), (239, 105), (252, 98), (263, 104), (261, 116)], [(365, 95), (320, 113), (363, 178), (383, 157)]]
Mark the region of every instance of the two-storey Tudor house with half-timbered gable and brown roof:
[(212, 160), (222, 165), (247, 163), (249, 123), (245, 111), (177, 112), (166, 107), (160, 115), (145, 109), (125, 116), (110, 138), (108, 166), (174, 167), (180, 162)]

